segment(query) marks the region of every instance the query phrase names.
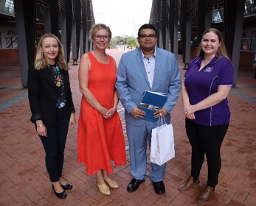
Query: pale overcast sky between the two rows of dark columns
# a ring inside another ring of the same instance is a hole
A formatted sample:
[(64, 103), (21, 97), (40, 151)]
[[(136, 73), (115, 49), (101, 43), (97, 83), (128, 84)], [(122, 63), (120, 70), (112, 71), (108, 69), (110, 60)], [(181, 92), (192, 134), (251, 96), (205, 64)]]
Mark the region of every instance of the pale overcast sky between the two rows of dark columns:
[(110, 27), (112, 37), (137, 37), (142, 24), (148, 24), (152, 0), (92, 0), (95, 23)]

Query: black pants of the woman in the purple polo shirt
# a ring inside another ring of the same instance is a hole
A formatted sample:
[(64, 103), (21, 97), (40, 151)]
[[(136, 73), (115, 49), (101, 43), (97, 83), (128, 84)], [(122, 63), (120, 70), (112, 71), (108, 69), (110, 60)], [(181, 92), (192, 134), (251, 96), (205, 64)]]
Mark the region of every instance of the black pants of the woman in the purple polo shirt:
[(204, 163), (204, 154), (207, 157), (208, 180), (207, 185), (215, 187), (218, 183), (218, 174), (221, 170), (221, 144), (226, 135), (229, 124), (207, 127), (195, 124), (186, 118), (186, 132), (192, 146), (191, 177), (194, 182), (198, 179)]

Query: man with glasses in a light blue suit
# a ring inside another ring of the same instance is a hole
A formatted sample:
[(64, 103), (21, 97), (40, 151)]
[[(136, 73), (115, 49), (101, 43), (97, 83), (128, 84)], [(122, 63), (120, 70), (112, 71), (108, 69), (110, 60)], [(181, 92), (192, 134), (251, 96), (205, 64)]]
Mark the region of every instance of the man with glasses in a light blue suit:
[[(173, 110), (180, 93), (181, 76), (176, 57), (164, 49), (156, 47), (156, 29), (152, 24), (139, 28), (139, 48), (122, 54), (117, 68), (117, 93), (125, 107), (126, 130), (130, 148), (130, 171), (133, 180), (127, 191), (134, 192), (145, 181), (147, 169), (147, 141), (151, 146), (151, 130), (157, 127), (162, 114), (170, 123)], [(145, 121), (145, 112), (138, 108), (143, 90), (167, 93), (164, 106), (154, 113), (156, 122)], [(166, 164), (151, 163), (149, 176), (157, 194), (165, 193), (163, 179)]]

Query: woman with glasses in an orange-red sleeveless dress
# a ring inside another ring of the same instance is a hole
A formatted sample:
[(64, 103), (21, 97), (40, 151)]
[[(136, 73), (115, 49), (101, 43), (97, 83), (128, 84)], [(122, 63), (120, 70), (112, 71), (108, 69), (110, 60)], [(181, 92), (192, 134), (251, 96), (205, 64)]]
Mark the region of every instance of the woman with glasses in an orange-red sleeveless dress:
[(78, 71), (83, 94), (78, 119), (78, 162), (86, 165), (86, 174), (96, 173), (100, 192), (110, 195), (109, 187), (118, 188), (117, 182), (108, 176), (113, 173), (111, 160), (115, 166), (126, 164), (122, 124), (117, 113), (117, 66), (114, 58), (105, 53), (111, 39), (109, 27), (95, 24), (89, 35), (95, 49), (82, 55)]

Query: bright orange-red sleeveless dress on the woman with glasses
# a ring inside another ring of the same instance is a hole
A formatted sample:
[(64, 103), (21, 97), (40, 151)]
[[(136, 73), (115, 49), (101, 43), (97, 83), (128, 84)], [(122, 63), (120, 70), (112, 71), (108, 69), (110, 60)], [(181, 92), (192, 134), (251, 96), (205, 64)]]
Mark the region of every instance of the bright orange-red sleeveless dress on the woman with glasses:
[[(114, 104), (116, 65), (113, 57), (109, 63), (100, 63), (91, 52), (87, 53), (91, 61), (88, 88), (103, 107), (110, 109)], [(120, 116), (103, 118), (82, 96), (77, 132), (78, 162), (86, 165), (86, 174), (95, 174), (104, 169), (113, 173), (111, 160), (115, 166), (126, 164), (125, 141)]]

